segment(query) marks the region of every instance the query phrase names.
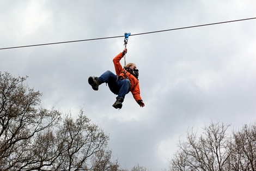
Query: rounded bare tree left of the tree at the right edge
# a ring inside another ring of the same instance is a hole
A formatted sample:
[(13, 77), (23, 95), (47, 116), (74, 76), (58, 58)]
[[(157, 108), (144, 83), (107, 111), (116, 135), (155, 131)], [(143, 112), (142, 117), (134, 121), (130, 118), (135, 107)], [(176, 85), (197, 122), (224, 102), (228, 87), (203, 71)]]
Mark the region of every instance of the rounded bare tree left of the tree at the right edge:
[(179, 142), (179, 150), (170, 161), (170, 170), (226, 170), (231, 151), (230, 125), (211, 123), (198, 137), (193, 128), (187, 132), (187, 142)]

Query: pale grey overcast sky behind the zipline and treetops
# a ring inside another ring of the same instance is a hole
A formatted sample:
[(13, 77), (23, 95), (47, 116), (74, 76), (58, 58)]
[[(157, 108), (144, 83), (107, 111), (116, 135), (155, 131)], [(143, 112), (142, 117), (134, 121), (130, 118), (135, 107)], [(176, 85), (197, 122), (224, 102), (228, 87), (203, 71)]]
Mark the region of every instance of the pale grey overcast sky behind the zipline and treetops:
[[(0, 48), (120, 36), (256, 17), (256, 1), (2, 1)], [(124, 38), (0, 50), (0, 71), (29, 76), (45, 108), (83, 108), (110, 137), (121, 168), (168, 169), (188, 127), (241, 127), (256, 113), (256, 20), (130, 36), (126, 63), (139, 69), (145, 107), (123, 108), (89, 76), (114, 72)], [(124, 61), (121, 60), (121, 64)]]

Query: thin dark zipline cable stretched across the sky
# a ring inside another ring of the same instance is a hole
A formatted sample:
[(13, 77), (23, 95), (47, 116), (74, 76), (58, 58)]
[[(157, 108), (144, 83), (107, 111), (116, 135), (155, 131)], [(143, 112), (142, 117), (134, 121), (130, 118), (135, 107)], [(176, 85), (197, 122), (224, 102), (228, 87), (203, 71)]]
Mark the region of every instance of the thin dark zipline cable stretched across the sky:
[[(168, 32), (168, 31), (172, 31), (172, 30), (187, 29), (187, 28), (194, 28), (194, 27), (203, 27), (203, 26), (211, 26), (211, 25), (220, 25), (220, 24), (223, 24), (223, 23), (238, 22), (238, 21), (253, 20), (253, 19), (256, 19), (256, 17), (247, 18), (247, 19), (240, 19), (240, 20), (232, 20), (232, 21), (223, 21), (223, 22), (209, 23), (209, 24), (205, 24), (205, 25), (197, 25), (197, 26), (188, 26), (188, 27), (180, 27), (180, 28), (159, 30), (159, 31), (154, 31), (154, 32), (145, 32), (145, 33), (131, 34), (130, 36), (133, 36), (133, 35), (142, 35), (142, 34), (151, 34), (151, 33), (159, 33), (159, 32)], [(101, 40), (101, 39), (113, 39), (113, 38), (121, 38), (121, 37), (123, 37), (123, 35), (120, 35), (120, 36), (110, 36), (110, 37), (106, 37), (106, 38), (95, 38), (95, 39), (84, 39), (84, 40), (72, 40), (72, 41), (52, 42), (52, 43), (47, 43), (47, 44), (37, 44), (37, 45), (4, 47), (4, 48), (0, 48), (0, 50), (6, 50), (6, 49), (10, 49), (10, 48), (32, 47), (32, 46), (45, 46), (45, 45), (55, 45), (55, 44), (66, 44), (66, 43), (79, 42), (79, 41), (91, 41), (91, 40)]]

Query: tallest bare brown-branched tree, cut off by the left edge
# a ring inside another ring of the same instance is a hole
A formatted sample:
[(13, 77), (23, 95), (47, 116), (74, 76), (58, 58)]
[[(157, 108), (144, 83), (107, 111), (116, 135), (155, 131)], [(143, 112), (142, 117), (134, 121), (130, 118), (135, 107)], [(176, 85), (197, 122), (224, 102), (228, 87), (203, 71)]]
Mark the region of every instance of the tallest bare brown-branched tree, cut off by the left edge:
[(58, 111), (39, 107), (41, 94), (23, 84), (26, 78), (0, 72), (0, 170), (25, 165), (36, 133), (60, 119)]

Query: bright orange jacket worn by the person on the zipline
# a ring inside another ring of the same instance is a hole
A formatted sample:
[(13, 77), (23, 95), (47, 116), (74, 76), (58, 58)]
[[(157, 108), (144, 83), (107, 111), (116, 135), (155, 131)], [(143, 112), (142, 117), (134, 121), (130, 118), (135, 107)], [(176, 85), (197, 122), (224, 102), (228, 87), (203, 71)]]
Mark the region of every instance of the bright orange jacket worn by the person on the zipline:
[[(115, 73), (117, 74), (118, 77), (123, 77), (126, 78), (125, 75), (129, 78), (131, 82), (131, 88), (130, 91), (133, 95), (133, 98), (136, 100), (138, 103), (139, 101), (142, 100), (141, 95), (140, 95), (140, 90), (139, 90), (139, 81), (135, 76), (130, 74), (130, 72), (127, 72), (126, 70), (123, 69), (122, 65), (120, 64), (121, 58), (123, 58), (124, 54), (121, 52), (119, 53), (116, 57), (113, 59), (113, 63), (115, 66)], [(124, 74), (124, 72), (125, 74)]]

